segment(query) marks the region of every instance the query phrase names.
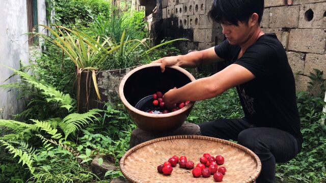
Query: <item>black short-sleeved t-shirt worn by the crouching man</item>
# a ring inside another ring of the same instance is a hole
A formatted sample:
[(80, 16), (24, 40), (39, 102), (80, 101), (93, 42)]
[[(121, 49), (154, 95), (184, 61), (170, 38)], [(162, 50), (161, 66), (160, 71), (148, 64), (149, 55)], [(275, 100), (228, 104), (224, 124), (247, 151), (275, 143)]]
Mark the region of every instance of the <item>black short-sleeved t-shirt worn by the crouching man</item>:
[(253, 80), (236, 87), (246, 119), (257, 127), (286, 131), (301, 146), (295, 82), (283, 45), (275, 34), (264, 34), (237, 59), (239, 51), (240, 46), (227, 40), (215, 46), (219, 57), (255, 75)]

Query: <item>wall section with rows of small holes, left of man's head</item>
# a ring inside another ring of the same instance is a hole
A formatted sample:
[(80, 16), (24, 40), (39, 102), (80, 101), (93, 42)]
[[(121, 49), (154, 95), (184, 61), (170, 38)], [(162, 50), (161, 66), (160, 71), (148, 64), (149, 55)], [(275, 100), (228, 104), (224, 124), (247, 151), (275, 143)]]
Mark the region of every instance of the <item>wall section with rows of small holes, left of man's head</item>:
[(188, 50), (202, 50), (221, 43), (224, 40), (220, 25), (207, 13), (212, 0), (162, 0), (163, 34), (173, 38), (187, 38), (181, 43), (184, 53)]

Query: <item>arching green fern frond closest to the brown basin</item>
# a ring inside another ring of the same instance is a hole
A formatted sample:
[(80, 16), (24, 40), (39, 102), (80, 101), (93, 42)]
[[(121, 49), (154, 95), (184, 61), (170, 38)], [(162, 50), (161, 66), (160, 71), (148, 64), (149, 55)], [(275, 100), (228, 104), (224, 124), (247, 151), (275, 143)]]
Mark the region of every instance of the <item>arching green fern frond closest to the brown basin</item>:
[(96, 115), (98, 115), (100, 111), (102, 110), (92, 109), (84, 114), (72, 113), (67, 115), (61, 123), (59, 123), (59, 127), (65, 133), (65, 139), (67, 139), (69, 134), (74, 134), (77, 130), (90, 124), (90, 122), (94, 123), (93, 119), (97, 120)]

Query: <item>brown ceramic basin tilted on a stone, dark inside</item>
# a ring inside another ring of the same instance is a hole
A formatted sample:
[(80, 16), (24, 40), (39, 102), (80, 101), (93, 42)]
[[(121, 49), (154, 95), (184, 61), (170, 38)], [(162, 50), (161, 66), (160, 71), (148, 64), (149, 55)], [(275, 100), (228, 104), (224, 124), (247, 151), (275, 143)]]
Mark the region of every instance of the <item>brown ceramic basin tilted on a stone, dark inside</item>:
[(160, 64), (148, 64), (128, 72), (119, 86), (119, 96), (129, 112), (130, 117), (138, 128), (148, 132), (166, 132), (181, 127), (191, 112), (194, 103), (167, 114), (152, 114), (135, 108), (144, 97), (157, 91), (163, 94), (173, 87), (181, 87), (195, 81), (195, 77), (186, 70), (171, 66), (164, 73), (160, 71)]

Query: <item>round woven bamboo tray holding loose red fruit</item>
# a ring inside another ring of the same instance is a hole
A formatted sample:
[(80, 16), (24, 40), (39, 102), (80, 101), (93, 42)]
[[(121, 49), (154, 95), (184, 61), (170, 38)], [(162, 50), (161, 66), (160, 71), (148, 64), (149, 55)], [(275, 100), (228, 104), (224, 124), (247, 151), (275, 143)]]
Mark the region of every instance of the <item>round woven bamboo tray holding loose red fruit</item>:
[[(173, 167), (171, 175), (157, 172), (157, 166), (176, 155), (199, 163), (204, 153), (222, 155), (227, 169), (222, 182), (254, 182), (261, 171), (261, 162), (250, 149), (218, 138), (180, 135), (153, 139), (129, 149), (120, 160), (123, 175), (131, 182), (214, 182), (208, 178), (193, 177), (192, 170)], [(219, 165), (220, 166), (220, 165)]]

